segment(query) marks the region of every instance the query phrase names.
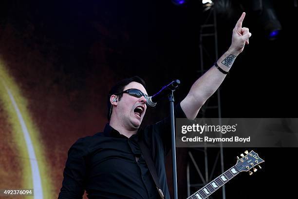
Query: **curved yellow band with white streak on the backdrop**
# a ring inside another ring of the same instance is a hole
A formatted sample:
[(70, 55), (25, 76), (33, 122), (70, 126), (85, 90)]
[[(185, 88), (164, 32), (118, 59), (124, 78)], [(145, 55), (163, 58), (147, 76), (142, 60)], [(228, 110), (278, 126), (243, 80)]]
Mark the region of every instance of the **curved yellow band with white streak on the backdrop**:
[[(54, 193), (51, 169), (46, 162), (45, 151), (40, 139), (40, 133), (28, 110), (28, 102), (22, 95), (21, 90), (14, 78), (5, 69), (5, 63), (0, 58), (0, 108), (7, 114), (7, 121), (11, 126), (11, 137), (14, 150), (19, 154), (18, 159), (21, 171), (22, 187), (0, 187), (2, 188), (32, 188), (34, 199), (56, 198)], [(0, 134), (2, 134), (0, 132)], [(1, 136), (2, 137), (2, 136)], [(2, 140), (4, 141), (4, 140)], [(9, 156), (2, 154), (1, 156)], [(7, 162), (9, 163), (9, 162)], [(5, 171), (4, 171), (5, 172)], [(0, 173), (1, 174), (1, 173)], [(2, 173), (3, 174), (3, 173)], [(4, 176), (0, 176), (3, 178)], [(6, 174), (5, 177), (9, 177)], [(27, 197), (26, 197), (27, 198)]]

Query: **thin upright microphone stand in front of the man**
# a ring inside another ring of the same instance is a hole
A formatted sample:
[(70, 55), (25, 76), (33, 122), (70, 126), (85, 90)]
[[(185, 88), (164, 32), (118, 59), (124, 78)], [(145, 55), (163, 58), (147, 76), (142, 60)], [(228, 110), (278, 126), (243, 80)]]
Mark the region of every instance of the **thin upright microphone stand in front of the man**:
[(177, 86), (171, 88), (171, 92), (168, 95), (169, 105), (170, 105), (170, 116), (171, 116), (171, 135), (172, 135), (172, 167), (173, 167), (173, 192), (174, 199), (178, 199), (177, 194), (177, 169), (176, 169), (176, 139), (175, 139), (175, 116), (174, 116), (174, 95), (173, 92), (179, 86), (180, 81), (175, 80)]

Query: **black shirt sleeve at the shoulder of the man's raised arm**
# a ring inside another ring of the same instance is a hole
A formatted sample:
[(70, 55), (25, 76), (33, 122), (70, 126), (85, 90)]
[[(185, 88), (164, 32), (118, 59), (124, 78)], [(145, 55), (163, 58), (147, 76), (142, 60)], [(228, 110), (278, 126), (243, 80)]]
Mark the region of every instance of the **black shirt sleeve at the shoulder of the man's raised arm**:
[[(176, 118), (187, 118), (184, 111), (180, 106), (180, 102), (175, 105), (174, 107), (174, 115)], [(172, 142), (171, 142), (171, 118), (168, 116), (167, 118), (157, 122), (154, 124), (155, 128), (157, 129), (156, 132), (159, 134), (160, 138), (162, 139), (165, 155), (168, 154), (169, 150), (171, 149)]]

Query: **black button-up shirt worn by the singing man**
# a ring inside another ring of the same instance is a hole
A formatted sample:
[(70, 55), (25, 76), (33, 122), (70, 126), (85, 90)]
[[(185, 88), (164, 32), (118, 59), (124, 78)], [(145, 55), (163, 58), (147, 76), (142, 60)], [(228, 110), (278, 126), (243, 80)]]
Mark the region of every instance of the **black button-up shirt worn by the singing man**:
[[(186, 118), (180, 103), (176, 118)], [(170, 118), (139, 129), (130, 138), (109, 124), (104, 132), (78, 139), (68, 152), (59, 199), (159, 199), (155, 183), (142, 156), (138, 138), (151, 152), (160, 186), (169, 199), (165, 156), (171, 148)], [(138, 157), (138, 161), (136, 161)]]

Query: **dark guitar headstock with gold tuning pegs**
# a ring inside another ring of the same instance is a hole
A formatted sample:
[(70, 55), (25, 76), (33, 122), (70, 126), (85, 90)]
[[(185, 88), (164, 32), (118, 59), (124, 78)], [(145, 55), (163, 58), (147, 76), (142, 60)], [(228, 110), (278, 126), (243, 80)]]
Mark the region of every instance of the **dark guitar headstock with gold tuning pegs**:
[[(250, 169), (253, 169), (254, 172), (256, 172), (258, 169), (255, 168), (257, 165), (261, 164), (264, 162), (263, 159), (259, 157), (257, 153), (254, 151), (251, 151), (248, 153), (246, 150), (244, 152), (246, 155), (241, 154), (241, 159), (237, 157), (237, 164), (235, 165), (235, 168), (239, 171), (249, 171)], [(261, 169), (261, 166), (259, 165), (259, 168)], [(252, 175), (253, 173), (249, 171), (249, 175)]]

